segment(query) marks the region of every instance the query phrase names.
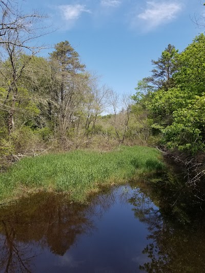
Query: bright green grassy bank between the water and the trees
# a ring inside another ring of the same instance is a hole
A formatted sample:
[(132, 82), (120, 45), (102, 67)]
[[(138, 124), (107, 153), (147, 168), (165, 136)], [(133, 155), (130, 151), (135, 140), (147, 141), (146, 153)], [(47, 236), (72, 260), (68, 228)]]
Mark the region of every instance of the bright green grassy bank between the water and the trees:
[(160, 153), (148, 147), (113, 152), (73, 151), (25, 158), (0, 175), (0, 203), (29, 192), (66, 192), (85, 202), (100, 185), (124, 183), (135, 175), (163, 169)]

